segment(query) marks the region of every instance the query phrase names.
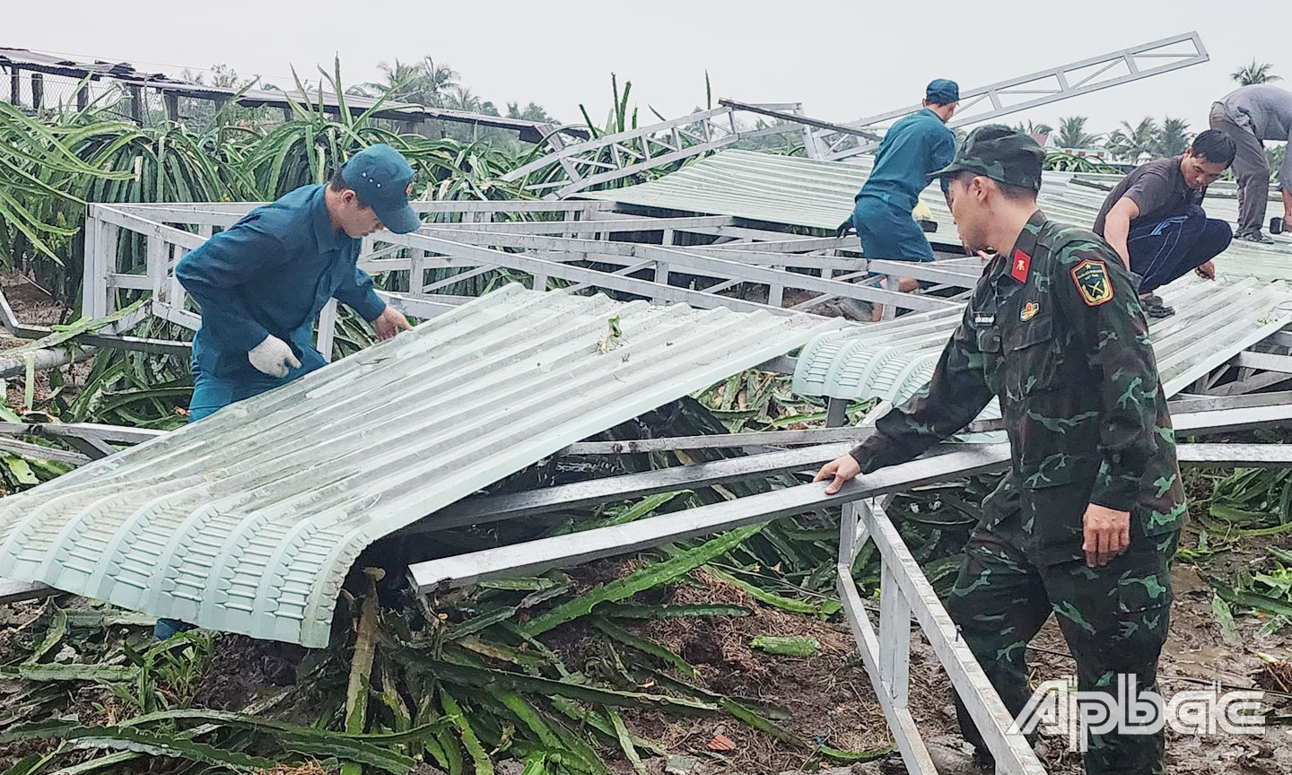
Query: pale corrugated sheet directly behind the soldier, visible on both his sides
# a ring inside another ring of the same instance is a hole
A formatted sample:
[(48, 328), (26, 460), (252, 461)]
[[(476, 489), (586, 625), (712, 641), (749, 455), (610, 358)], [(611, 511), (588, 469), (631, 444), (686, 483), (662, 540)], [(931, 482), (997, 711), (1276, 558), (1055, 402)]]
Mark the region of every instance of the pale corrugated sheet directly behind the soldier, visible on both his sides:
[[(1177, 314), (1150, 320), (1149, 328), (1168, 395), (1292, 323), (1292, 288), (1283, 283), (1196, 280), (1163, 296)], [(793, 391), (901, 403), (933, 376), (960, 316), (924, 313), (818, 336), (798, 355)]]

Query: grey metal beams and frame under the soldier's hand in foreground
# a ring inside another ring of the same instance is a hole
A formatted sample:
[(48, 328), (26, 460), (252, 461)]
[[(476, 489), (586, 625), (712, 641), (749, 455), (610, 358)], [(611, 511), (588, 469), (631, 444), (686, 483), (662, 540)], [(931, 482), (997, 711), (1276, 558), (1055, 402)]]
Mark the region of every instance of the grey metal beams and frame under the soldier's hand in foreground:
[[(1189, 399), (1180, 402), (1182, 411), (1174, 416), (1174, 424), (1181, 434), (1194, 435), (1292, 422), (1289, 395), (1275, 398), (1279, 403), (1271, 403), (1270, 397), (1262, 395), (1216, 400)], [(1213, 408), (1200, 409), (1204, 404)], [(872, 412), (868, 420), (876, 413)], [(850, 428), (846, 431), (860, 437), (867, 429)], [(703, 437), (696, 438), (703, 439)], [(729, 438), (713, 443), (718, 447), (735, 444), (739, 442)], [(456, 504), (417, 526), (406, 528), (406, 532), (432, 532), (496, 519), (530, 518), (576, 508), (580, 504), (792, 470), (810, 471), (822, 462), (842, 455), (849, 447), (850, 444), (833, 443), (795, 451), (765, 452), (751, 457), (625, 474), (541, 491), (487, 496)], [(1292, 464), (1292, 450), (1279, 444), (1181, 444), (1178, 452), (1181, 464), (1186, 466)], [(908, 708), (910, 637), (913, 616), (994, 754), (996, 772), (1039, 775), (1045, 770), (1026, 739), (1010, 734), (1013, 718), (968, 646), (960, 639), (955, 624), (885, 513), (881, 500), (881, 496), (922, 484), (1001, 470), (1008, 462), (1009, 446), (1005, 443), (943, 444), (933, 456), (859, 477), (845, 484), (836, 495), (826, 495), (823, 484), (801, 484), (627, 524), (416, 563), (408, 567), (408, 575), (417, 593), (432, 594), (506, 575), (541, 572), (840, 505), (842, 518), (836, 567), (840, 599), (907, 771), (916, 775), (937, 772)], [(881, 558), (877, 629), (851, 577), (853, 561), (867, 540), (875, 542)]]

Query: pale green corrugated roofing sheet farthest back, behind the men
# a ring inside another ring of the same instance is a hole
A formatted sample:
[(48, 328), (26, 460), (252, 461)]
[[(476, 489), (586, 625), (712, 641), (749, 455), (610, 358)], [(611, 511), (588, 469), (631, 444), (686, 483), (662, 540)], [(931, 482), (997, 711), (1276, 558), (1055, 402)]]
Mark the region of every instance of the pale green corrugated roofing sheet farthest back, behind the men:
[[(870, 174), (868, 163), (870, 158), (866, 158), (864, 165), (858, 165), (725, 150), (646, 183), (587, 191), (578, 196), (832, 230), (851, 212), (853, 198)], [(1076, 181), (1072, 173), (1045, 173), (1040, 207), (1057, 221), (1090, 227), (1107, 195), (1107, 191), (1096, 186), (1107, 187), (1116, 178), (1075, 177)], [(1218, 185), (1216, 190), (1226, 195), (1207, 198), (1208, 214), (1236, 222), (1238, 200), (1227, 195), (1231, 189)], [(938, 222), (938, 231), (932, 239), (959, 244), (956, 226), (941, 189), (937, 185), (929, 186), (920, 198)], [(1271, 207), (1270, 211), (1274, 212), (1275, 208)], [(1235, 242), (1220, 258), (1221, 271), (1239, 276), (1292, 280), (1292, 239), (1275, 239), (1278, 243), (1274, 245)]]

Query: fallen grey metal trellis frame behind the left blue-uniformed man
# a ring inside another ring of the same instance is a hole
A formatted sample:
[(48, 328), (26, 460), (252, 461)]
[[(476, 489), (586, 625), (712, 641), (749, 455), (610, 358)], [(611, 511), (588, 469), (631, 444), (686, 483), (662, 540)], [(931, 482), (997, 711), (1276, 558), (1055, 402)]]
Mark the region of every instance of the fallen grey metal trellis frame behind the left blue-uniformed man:
[[(419, 203), (419, 209), (437, 216), (461, 218), (459, 222), (428, 223), (421, 231), (394, 235), (381, 234), (364, 240), (359, 265), (371, 271), (408, 271), (411, 278), (425, 280), (425, 271), (465, 269), (466, 274), (439, 283), (410, 282), (407, 294), (382, 293), (404, 314), (432, 318), (465, 301), (446, 297), (435, 291), (470, 274), (509, 269), (528, 274), (537, 288), (547, 288), (556, 278), (578, 287), (632, 293), (656, 302), (686, 302), (703, 309), (726, 306), (734, 310), (782, 309), (784, 291), (797, 288), (815, 296), (817, 301), (835, 297), (880, 302), (913, 310), (946, 310), (957, 302), (934, 296), (907, 294), (873, 288), (860, 283), (832, 279), (836, 270), (862, 271), (860, 258), (800, 256), (795, 253), (758, 252), (757, 261), (734, 261), (721, 253), (704, 253), (668, 244), (652, 245), (610, 240), (615, 234), (662, 232), (669, 243), (678, 231), (724, 229), (735, 220), (726, 216), (685, 218), (640, 218), (605, 212), (606, 203)], [(523, 205), (523, 207), (518, 207)], [(169, 205), (105, 205), (89, 208), (85, 227), (85, 283), (83, 309), (87, 315), (102, 316), (115, 306), (115, 289), (150, 291), (151, 315), (196, 329), (200, 318), (189, 311), (183, 287), (174, 278), (174, 266), (187, 251), (199, 247), (216, 227), (225, 227), (255, 207), (255, 203), (198, 203)], [(492, 222), (495, 213), (568, 213), (575, 220)], [(196, 227), (196, 232), (186, 227)], [(143, 274), (118, 271), (116, 254), (120, 232), (142, 235), (146, 266)], [(575, 235), (575, 236), (571, 236)], [(580, 239), (597, 236), (601, 239)], [(778, 235), (780, 236), (780, 235)], [(793, 240), (783, 240), (786, 244)], [(848, 240), (836, 243), (850, 244)], [(851, 240), (855, 242), (855, 238)], [(757, 243), (740, 243), (757, 244)], [(815, 245), (815, 242), (813, 242)], [(494, 248), (523, 249), (525, 253)], [(602, 271), (575, 266), (575, 261), (597, 261), (620, 269)], [(877, 262), (876, 262), (877, 264)], [(788, 271), (802, 267), (814, 274)], [(634, 276), (650, 273), (650, 279)], [(959, 271), (930, 270), (941, 279), (959, 276)], [(712, 291), (694, 291), (669, 284), (674, 274), (707, 276), (717, 280)], [(968, 276), (968, 273), (965, 273)], [(932, 275), (930, 275), (932, 276)], [(961, 280), (964, 282), (964, 280)], [(736, 284), (762, 285), (766, 302), (720, 296), (720, 289)], [(972, 284), (972, 283), (966, 283)], [(319, 349), (329, 351), (336, 319), (335, 305), (324, 309), (319, 327)]]

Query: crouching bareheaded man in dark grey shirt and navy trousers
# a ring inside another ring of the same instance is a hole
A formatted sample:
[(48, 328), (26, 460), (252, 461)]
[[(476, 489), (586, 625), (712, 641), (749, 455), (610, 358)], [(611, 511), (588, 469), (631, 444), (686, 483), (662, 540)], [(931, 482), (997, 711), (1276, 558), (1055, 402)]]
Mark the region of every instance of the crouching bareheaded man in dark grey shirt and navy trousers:
[(1212, 258), (1229, 247), (1229, 223), (1208, 218), (1202, 202), (1207, 186), (1234, 161), (1234, 141), (1208, 129), (1180, 156), (1141, 164), (1112, 189), (1094, 232), (1102, 236), (1140, 280), (1140, 302), (1150, 318), (1174, 310), (1152, 293), (1194, 270), (1216, 278)]

